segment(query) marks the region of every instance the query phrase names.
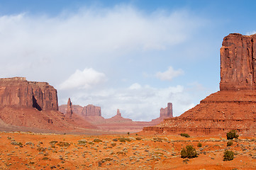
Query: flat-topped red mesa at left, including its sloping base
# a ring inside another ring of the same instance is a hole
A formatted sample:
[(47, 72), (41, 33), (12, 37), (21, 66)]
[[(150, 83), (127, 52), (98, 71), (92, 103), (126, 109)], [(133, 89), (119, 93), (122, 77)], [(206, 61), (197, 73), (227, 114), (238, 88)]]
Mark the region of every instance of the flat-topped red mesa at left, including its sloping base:
[(86, 132), (96, 128), (79, 115), (72, 117), (77, 121), (58, 111), (57, 90), (50, 84), (27, 81), (24, 77), (0, 79), (1, 130)]

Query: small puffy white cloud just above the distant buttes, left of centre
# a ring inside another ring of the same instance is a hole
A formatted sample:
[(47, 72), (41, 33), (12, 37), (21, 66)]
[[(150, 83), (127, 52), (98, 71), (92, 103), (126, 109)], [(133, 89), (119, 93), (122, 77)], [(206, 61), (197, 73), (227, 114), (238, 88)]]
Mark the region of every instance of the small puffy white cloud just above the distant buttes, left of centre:
[(86, 68), (84, 71), (77, 69), (74, 74), (60, 84), (60, 89), (89, 89), (92, 86), (103, 83), (104, 81), (106, 81), (104, 73), (96, 72), (92, 68)]

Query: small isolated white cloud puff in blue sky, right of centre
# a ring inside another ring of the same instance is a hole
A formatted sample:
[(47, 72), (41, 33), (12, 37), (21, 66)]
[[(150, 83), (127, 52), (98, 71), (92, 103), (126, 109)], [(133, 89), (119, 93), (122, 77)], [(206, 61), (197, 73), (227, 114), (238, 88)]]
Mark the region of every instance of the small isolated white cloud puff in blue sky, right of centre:
[(160, 80), (172, 81), (172, 79), (174, 77), (178, 77), (182, 74), (184, 74), (182, 69), (174, 70), (172, 67), (169, 67), (169, 69), (167, 69), (167, 71), (157, 72), (157, 74), (155, 74), (155, 76)]

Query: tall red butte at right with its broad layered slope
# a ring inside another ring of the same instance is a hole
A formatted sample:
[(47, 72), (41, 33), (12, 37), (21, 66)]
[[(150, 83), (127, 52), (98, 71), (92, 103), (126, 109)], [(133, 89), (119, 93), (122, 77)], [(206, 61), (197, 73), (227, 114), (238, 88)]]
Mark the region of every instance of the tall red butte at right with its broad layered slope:
[(159, 125), (143, 128), (144, 134), (256, 135), (256, 35), (231, 33), (221, 47), (220, 91), (197, 106)]

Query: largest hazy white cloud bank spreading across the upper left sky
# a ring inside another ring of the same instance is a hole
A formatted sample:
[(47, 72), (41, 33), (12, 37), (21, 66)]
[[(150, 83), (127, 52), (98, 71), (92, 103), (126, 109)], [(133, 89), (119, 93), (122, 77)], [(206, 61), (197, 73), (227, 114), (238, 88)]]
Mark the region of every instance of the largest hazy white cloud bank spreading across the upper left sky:
[(67, 68), (96, 68), (130, 53), (138, 57), (165, 50), (187, 40), (199, 26), (201, 21), (187, 11), (143, 13), (133, 6), (84, 7), (55, 17), (0, 16), (0, 77), (63, 81)]

